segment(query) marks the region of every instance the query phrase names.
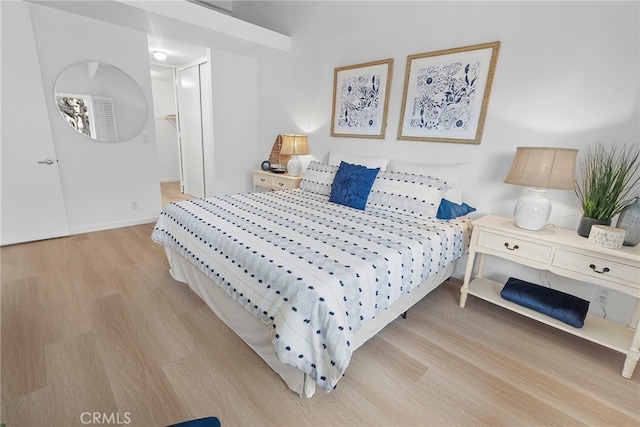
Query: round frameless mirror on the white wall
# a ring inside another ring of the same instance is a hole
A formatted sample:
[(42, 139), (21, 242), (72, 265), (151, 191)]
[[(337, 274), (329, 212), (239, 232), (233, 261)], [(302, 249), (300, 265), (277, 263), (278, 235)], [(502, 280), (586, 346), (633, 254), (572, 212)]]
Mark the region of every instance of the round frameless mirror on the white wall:
[(121, 69), (100, 62), (63, 70), (55, 99), (65, 122), (95, 141), (127, 141), (147, 120), (147, 101), (137, 83)]

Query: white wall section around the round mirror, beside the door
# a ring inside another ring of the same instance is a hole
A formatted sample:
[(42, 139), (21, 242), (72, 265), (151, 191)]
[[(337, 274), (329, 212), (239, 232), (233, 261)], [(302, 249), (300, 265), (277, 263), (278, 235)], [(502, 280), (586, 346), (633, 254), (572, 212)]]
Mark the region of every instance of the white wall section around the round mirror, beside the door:
[[(147, 35), (44, 6), (29, 7), (71, 233), (153, 221), (161, 198)], [(99, 143), (61, 119), (53, 102), (56, 78), (84, 61), (118, 67), (141, 87), (148, 112), (139, 135)]]

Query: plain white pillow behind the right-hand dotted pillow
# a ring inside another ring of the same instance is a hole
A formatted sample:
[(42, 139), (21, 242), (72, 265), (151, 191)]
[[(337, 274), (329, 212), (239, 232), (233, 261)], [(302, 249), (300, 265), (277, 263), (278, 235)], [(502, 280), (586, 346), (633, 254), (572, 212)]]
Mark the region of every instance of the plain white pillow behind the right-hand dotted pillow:
[(445, 191), (443, 198), (460, 205), (462, 204), (464, 183), (471, 173), (472, 167), (471, 163), (426, 164), (391, 159), (388, 170), (439, 178), (450, 186)]

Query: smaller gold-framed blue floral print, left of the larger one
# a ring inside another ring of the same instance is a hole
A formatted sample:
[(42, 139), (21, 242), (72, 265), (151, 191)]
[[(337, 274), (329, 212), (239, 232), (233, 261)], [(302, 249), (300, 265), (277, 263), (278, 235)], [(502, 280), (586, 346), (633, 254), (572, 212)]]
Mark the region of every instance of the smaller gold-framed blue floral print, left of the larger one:
[(331, 136), (383, 139), (393, 59), (334, 70)]

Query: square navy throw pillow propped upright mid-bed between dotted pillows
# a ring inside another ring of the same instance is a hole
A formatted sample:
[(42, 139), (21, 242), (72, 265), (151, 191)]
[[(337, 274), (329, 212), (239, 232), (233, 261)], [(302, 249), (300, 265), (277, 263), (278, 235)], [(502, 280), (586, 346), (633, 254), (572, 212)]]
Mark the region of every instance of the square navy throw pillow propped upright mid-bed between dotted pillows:
[(380, 168), (369, 169), (365, 166), (340, 162), (331, 184), (329, 201), (363, 210), (376, 180)]

